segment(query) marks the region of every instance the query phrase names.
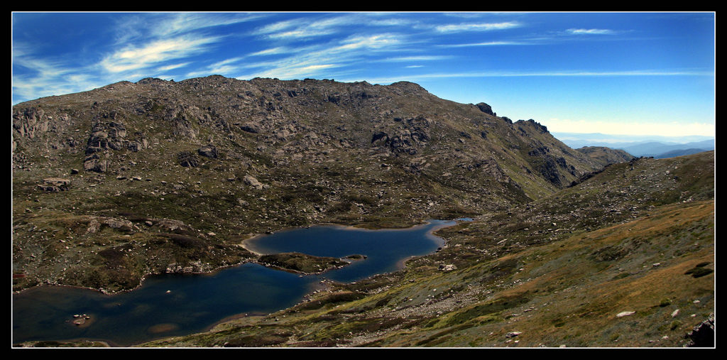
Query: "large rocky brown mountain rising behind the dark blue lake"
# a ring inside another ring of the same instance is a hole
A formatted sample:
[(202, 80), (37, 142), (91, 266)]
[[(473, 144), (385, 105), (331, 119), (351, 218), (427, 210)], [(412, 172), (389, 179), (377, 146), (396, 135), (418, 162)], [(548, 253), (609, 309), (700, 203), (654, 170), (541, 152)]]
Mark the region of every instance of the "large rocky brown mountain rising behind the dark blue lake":
[(408, 82), (143, 79), (12, 117), (15, 289), (132, 289), (254, 260), (252, 233), (507, 209), (602, 167), (535, 121)]

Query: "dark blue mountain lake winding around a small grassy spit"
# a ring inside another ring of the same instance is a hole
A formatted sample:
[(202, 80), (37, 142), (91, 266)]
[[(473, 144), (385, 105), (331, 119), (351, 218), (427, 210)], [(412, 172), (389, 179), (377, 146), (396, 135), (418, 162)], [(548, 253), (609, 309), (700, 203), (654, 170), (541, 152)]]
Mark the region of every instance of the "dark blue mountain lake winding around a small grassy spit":
[[(430, 220), (414, 228), (377, 231), (313, 226), (262, 236), (250, 241), (249, 247), (262, 253), (366, 255), (365, 260), (321, 275), (350, 282), (398, 270), (406, 258), (434, 252), (442, 243), (431, 232), (447, 225), (454, 222)], [(212, 274), (150, 276), (139, 289), (119, 295), (36, 287), (13, 295), (12, 342), (92, 339), (127, 346), (188, 335), (230, 316), (289, 308), (313, 291), (321, 276), (300, 276), (248, 263)], [(72, 323), (74, 314), (87, 314), (91, 319), (78, 327)]]

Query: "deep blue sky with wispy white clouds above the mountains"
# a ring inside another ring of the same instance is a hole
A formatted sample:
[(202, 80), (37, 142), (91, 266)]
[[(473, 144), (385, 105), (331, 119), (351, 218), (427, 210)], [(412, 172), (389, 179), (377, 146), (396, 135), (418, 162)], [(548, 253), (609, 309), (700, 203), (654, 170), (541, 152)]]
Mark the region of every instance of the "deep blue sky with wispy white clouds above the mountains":
[(12, 104), (214, 74), (411, 81), (551, 132), (715, 136), (714, 12), (12, 13)]

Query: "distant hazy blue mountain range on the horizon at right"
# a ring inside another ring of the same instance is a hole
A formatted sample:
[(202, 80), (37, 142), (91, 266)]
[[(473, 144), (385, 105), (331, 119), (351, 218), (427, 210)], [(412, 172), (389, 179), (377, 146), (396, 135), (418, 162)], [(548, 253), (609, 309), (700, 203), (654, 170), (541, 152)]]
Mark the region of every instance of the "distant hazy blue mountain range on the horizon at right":
[(715, 149), (715, 139), (705, 136), (665, 137), (640, 135), (578, 134), (552, 132), (553, 136), (571, 148), (606, 146), (621, 149), (633, 156), (654, 156), (656, 159), (701, 153)]

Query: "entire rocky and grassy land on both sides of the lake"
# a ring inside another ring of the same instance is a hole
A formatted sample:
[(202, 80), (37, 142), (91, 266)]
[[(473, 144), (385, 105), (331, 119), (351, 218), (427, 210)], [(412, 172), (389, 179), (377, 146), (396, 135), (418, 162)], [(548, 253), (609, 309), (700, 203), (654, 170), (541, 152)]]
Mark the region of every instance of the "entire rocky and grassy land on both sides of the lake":
[(713, 329), (713, 151), (610, 164), (417, 84), (222, 76), (15, 105), (12, 150), (14, 290), (261, 262), (241, 241), (290, 226), (474, 218), (402, 271), (145, 346), (671, 347)]

